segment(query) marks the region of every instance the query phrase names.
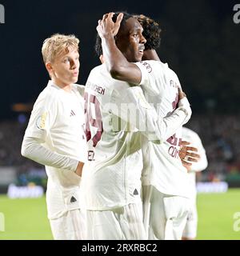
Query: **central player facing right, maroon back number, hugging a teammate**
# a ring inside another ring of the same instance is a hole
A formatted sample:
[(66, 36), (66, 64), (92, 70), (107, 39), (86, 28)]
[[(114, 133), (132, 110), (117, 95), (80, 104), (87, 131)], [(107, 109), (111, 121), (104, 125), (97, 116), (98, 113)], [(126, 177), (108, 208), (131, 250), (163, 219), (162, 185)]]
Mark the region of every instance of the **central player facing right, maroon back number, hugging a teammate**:
[[(140, 86), (118, 81), (118, 72), (109, 70), (107, 38), (127, 63), (141, 61), (146, 39), (138, 20), (129, 14), (105, 14), (103, 21), (97, 28), (103, 46), (98, 54), (103, 53), (106, 62), (91, 70), (85, 90), (88, 161), (82, 172), (82, 196), (87, 238), (145, 239), (140, 196), (142, 137), (154, 143), (165, 141), (189, 120), (191, 110), (182, 91), (175, 88), (178, 108), (159, 117)], [(157, 77), (157, 70), (153, 74)], [(140, 83), (141, 78), (134, 82)], [(148, 79), (142, 80), (143, 85), (148, 83)]]

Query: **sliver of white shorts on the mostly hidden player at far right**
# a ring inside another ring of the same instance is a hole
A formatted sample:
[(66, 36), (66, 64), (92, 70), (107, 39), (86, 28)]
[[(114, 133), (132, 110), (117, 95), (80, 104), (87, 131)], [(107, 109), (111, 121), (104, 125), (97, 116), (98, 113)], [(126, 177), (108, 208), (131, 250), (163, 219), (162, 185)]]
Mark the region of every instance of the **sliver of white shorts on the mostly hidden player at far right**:
[(186, 218), (186, 226), (183, 230), (182, 237), (187, 239), (195, 239), (198, 230), (198, 211), (196, 200), (192, 200), (190, 204), (190, 212)]

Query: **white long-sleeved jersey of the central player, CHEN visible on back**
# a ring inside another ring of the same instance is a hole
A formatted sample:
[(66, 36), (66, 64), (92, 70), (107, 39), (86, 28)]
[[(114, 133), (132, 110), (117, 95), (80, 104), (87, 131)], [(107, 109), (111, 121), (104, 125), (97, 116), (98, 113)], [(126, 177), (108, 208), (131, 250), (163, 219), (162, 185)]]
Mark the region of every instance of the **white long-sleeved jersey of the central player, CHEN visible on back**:
[(111, 78), (105, 64), (91, 70), (85, 101), (88, 162), (82, 172), (82, 195), (86, 209), (110, 210), (140, 200), (142, 134), (159, 143), (190, 117), (179, 109), (169, 118), (158, 118), (142, 89)]

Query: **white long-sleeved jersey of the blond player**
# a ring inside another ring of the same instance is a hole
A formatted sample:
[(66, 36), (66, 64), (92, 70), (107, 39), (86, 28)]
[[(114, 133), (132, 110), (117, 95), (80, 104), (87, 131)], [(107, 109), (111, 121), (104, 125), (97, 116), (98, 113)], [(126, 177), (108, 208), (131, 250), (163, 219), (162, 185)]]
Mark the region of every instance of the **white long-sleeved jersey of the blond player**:
[(83, 91), (84, 86), (73, 85), (66, 92), (50, 81), (34, 104), (23, 138), (22, 150), (46, 166), (50, 219), (79, 208), (81, 178), (74, 170), (78, 161), (86, 161)]

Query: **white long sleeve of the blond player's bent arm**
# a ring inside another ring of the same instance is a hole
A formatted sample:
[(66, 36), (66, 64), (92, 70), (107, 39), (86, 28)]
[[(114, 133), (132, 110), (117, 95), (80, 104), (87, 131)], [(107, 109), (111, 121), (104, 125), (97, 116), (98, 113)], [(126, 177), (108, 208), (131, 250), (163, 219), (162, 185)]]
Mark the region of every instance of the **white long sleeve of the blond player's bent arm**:
[(22, 140), (21, 153), (42, 165), (74, 171), (78, 160), (57, 154), (43, 146), (58, 114), (58, 98), (54, 96), (56, 95), (39, 95)]

